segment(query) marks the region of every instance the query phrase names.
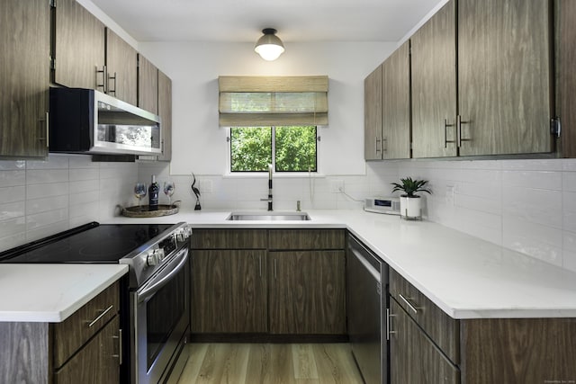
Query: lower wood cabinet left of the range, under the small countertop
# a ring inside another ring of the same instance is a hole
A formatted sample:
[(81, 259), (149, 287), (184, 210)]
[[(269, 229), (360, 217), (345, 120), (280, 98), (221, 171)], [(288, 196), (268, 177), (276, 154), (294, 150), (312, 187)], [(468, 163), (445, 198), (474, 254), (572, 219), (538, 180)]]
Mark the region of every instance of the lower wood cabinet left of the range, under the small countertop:
[(120, 383), (119, 309), (114, 282), (61, 323), (0, 322), (0, 383)]

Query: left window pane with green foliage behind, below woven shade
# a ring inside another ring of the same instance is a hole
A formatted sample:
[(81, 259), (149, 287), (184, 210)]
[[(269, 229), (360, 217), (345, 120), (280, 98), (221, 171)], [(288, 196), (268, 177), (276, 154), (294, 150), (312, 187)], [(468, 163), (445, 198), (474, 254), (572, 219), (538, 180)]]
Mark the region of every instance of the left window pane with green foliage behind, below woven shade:
[(230, 128), (231, 172), (267, 171), (272, 164), (272, 128)]

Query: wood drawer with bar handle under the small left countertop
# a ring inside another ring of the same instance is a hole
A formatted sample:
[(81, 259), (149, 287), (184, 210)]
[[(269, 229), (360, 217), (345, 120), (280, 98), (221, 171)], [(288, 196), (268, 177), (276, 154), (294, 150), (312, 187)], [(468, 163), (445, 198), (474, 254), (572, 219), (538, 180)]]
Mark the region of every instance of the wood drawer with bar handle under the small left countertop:
[(62, 323), (53, 326), (54, 367), (60, 367), (120, 309), (119, 283), (114, 282)]

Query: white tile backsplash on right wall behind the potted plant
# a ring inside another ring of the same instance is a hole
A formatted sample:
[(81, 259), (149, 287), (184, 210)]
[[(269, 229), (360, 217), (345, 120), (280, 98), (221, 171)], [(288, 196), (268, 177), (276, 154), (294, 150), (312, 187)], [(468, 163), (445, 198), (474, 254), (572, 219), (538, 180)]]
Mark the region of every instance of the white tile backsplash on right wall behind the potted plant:
[(428, 219), (576, 271), (576, 159), (405, 161)]

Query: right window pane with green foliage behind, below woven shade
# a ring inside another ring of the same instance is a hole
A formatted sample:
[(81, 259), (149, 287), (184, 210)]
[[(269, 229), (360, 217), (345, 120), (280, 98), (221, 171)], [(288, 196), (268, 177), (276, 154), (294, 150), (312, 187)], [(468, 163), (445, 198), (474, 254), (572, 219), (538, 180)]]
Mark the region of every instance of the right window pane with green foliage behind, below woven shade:
[(316, 172), (316, 127), (275, 128), (276, 172)]

